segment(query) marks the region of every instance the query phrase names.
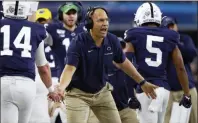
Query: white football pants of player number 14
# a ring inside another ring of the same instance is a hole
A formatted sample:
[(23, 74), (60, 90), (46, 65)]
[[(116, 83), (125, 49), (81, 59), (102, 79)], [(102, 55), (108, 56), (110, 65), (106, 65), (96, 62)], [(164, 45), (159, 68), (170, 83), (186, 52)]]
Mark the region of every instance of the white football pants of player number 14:
[(1, 123), (28, 123), (36, 84), (27, 77), (4, 76), (1, 82)]

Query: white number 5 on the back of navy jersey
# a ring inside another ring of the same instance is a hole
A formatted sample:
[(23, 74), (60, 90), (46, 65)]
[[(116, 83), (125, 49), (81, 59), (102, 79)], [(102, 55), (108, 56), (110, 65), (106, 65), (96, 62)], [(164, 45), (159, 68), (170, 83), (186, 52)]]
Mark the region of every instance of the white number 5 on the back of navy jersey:
[(156, 60), (151, 60), (151, 58), (145, 58), (145, 62), (149, 66), (158, 67), (162, 64), (162, 51), (159, 48), (152, 47), (152, 43), (163, 41), (164, 37), (147, 35), (146, 49), (149, 51), (149, 53), (156, 54)]

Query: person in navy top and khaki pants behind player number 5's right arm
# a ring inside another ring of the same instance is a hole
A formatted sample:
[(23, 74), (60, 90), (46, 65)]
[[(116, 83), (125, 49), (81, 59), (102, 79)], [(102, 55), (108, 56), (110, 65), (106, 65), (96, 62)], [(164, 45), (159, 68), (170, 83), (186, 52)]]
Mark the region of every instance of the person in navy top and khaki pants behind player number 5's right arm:
[[(178, 32), (177, 21), (171, 17), (165, 16), (162, 19), (161, 27)], [(197, 90), (195, 88), (195, 80), (193, 78), (193, 74), (190, 68), (191, 62), (197, 56), (197, 51), (192, 41), (192, 38), (185, 34), (180, 33), (180, 42), (178, 42), (177, 45), (182, 53), (184, 65), (188, 74), (190, 94), (192, 98), (192, 109), (190, 113), (189, 123), (197, 123)], [(173, 102), (179, 102), (184, 94), (177, 78), (175, 67), (171, 61), (169, 62), (167, 70), (168, 83), (171, 87), (171, 92), (165, 116), (165, 123), (170, 122)]]

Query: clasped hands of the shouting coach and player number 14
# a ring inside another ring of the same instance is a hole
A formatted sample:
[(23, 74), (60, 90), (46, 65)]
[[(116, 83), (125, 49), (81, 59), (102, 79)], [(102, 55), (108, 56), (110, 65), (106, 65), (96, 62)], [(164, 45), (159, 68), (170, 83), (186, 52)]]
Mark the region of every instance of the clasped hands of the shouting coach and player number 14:
[(61, 102), (64, 99), (64, 90), (61, 90), (59, 85), (55, 87), (51, 85), (48, 88), (48, 99), (54, 102)]

